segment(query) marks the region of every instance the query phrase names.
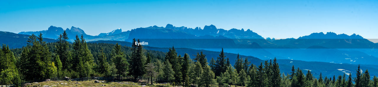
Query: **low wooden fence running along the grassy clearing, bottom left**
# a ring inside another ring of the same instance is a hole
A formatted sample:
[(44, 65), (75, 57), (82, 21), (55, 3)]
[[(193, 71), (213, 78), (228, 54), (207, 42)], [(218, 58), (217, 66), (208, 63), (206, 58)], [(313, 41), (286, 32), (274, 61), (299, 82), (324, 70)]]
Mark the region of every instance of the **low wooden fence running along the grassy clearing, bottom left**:
[[(50, 81), (63, 81), (62, 78), (48, 78)], [(33, 83), (33, 82), (43, 82), (46, 79), (36, 80), (36, 81), (29, 81), (29, 82), (23, 82), (23, 84), (27, 83)], [(88, 81), (88, 80), (105, 80), (105, 81), (132, 81), (134, 80), (133, 76), (116, 76), (116, 77), (86, 77), (86, 78), (75, 78), (72, 79), (73, 81)], [(144, 78), (143, 76), (139, 76), (137, 80), (148, 80), (148, 81), (164, 81), (161, 78)], [(0, 87), (14, 87), (14, 84), (12, 85), (0, 85)]]

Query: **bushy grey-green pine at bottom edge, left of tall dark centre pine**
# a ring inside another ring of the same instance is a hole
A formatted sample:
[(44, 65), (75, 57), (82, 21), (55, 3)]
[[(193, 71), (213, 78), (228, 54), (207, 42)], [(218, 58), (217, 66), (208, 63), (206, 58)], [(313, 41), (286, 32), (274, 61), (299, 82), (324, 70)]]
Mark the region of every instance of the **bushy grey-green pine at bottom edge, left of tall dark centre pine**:
[(204, 87), (209, 87), (210, 85), (215, 85), (215, 75), (214, 72), (211, 71), (209, 65), (204, 66), (203, 73), (201, 75), (201, 82)]

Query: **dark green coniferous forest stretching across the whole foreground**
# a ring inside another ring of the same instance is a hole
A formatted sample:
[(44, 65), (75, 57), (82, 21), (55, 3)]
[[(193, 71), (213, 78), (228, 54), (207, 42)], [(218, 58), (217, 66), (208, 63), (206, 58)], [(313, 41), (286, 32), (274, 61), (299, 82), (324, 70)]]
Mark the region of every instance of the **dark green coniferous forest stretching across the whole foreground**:
[[(91, 44), (83, 36), (68, 42), (67, 33), (57, 42), (46, 43), (42, 34), (29, 36), (26, 47), (0, 50), (0, 84), (14, 84), (54, 77), (139, 76), (163, 78), (174, 86), (189, 87), (378, 87), (378, 78), (356, 67), (352, 75), (313, 76), (310, 70), (292, 66), (290, 73), (280, 72), (276, 59), (251, 64), (236, 57), (234, 65), (224, 55), (207, 61), (206, 54), (177, 54), (174, 47), (164, 53), (145, 50), (143, 45)], [(133, 42), (141, 42), (133, 39)], [(189, 55), (195, 55), (191, 58)], [(316, 78), (319, 77), (319, 78)]]

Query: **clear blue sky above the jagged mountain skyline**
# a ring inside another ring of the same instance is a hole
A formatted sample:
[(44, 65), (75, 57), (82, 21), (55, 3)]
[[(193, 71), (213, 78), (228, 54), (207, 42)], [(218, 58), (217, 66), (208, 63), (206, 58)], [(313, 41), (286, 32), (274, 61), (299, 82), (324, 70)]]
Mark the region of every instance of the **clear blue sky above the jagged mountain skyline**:
[(0, 31), (79, 27), (89, 35), (148, 26), (215, 25), (263, 37), (318, 32), (378, 39), (378, 0), (1, 0)]

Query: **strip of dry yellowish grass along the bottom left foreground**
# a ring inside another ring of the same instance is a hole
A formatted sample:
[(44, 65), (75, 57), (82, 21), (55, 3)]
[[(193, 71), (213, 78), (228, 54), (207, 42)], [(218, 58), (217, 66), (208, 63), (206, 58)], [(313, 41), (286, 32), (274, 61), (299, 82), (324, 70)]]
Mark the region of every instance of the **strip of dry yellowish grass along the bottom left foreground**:
[[(144, 82), (144, 81), (142, 81)], [(31, 83), (25, 84), (25, 87), (43, 87), (43, 86), (50, 86), (50, 87), (141, 87), (143, 85), (141, 81), (139, 82), (128, 82), (128, 81), (104, 81), (100, 83), (95, 83), (95, 80), (91, 81), (45, 81), (39, 83)], [(165, 87), (166, 84), (157, 84), (154, 83), (146, 84), (144, 87)]]

